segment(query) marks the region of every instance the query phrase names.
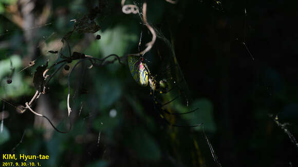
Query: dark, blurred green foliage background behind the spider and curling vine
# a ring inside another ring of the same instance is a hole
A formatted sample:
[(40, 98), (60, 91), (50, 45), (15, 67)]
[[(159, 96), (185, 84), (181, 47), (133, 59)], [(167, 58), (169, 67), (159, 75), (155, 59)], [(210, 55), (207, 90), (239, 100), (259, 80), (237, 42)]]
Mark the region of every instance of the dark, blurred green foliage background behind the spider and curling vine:
[[(63, 48), (63, 54), (69, 55), (60, 41), (73, 29), (69, 20), (81, 18), (95, 6), (101, 9), (95, 19), (101, 30), (73, 33), (68, 40), (72, 51), (99, 58), (113, 53), (125, 56), (138, 51), (141, 30), (143, 45), (150, 40), (139, 15), (122, 13), (119, 1), (28, 1), (32, 8), (24, 2), (0, 2), (0, 98), (14, 106), (24, 105), (34, 95), (36, 67), (57, 61), (58, 54), (48, 50)], [(133, 3), (141, 7), (143, 2), (126, 2)], [(298, 165), (297, 146), (269, 117), (278, 114), (297, 136), (296, 6), (294, 1), (147, 2), (148, 23), (171, 41), (199, 108), (181, 119), (167, 118), (204, 123), (222, 166)], [(100, 40), (96, 34), (101, 34)], [(160, 41), (147, 57), (153, 60), (148, 64), (154, 72), (159, 71), (154, 56), (164, 49)], [(18, 73), (35, 59), (36, 65)], [(91, 70), (88, 66), (82, 64), (72, 74), (72, 130), (67, 134), (1, 102), (9, 113), (0, 133), (1, 154), (49, 155), (49, 160), (35, 161), (43, 166), (217, 165), (202, 127), (167, 126), (154, 110), (150, 89), (137, 85), (127, 65), (115, 62)], [(68, 72), (57, 73), (49, 93), (33, 107), (59, 129), (69, 124)], [(175, 105), (169, 110), (180, 111)], [(111, 110), (117, 111), (116, 117), (109, 116)]]

